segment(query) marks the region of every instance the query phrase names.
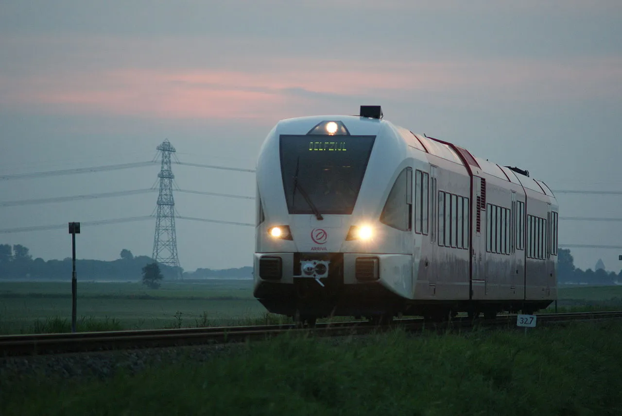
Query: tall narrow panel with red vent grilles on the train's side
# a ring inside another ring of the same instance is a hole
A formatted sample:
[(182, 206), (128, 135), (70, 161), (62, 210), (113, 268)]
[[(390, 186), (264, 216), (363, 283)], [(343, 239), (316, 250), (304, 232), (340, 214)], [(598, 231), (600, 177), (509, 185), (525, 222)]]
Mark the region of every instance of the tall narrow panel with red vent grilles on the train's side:
[(471, 198), (471, 299), (486, 297), (486, 179), (472, 177)]

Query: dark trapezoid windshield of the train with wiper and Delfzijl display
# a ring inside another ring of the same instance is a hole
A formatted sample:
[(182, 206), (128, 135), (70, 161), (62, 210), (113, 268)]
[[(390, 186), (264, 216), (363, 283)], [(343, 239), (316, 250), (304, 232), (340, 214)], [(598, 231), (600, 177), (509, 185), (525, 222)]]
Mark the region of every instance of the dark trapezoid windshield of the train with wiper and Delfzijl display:
[(352, 214), (375, 136), (281, 135), (290, 214)]

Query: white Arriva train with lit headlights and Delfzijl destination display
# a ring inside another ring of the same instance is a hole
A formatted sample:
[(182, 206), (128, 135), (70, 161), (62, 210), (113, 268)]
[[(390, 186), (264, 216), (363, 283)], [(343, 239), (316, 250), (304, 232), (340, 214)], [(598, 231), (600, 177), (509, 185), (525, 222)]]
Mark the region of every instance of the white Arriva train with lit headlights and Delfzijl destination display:
[(360, 116), (282, 120), (257, 165), (254, 296), (302, 322), (526, 313), (557, 297), (553, 192)]

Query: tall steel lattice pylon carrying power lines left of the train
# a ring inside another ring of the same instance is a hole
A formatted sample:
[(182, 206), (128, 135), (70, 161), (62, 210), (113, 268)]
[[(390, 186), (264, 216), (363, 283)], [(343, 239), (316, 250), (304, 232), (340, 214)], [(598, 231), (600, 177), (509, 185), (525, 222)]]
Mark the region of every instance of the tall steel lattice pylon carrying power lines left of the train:
[(160, 173), (160, 192), (157, 197), (156, 235), (152, 258), (163, 265), (180, 267), (177, 258), (177, 235), (175, 233), (175, 201), (173, 199), (173, 179), (175, 175), (170, 167), (170, 155), (175, 148), (169, 140), (164, 140), (157, 147), (162, 155)]

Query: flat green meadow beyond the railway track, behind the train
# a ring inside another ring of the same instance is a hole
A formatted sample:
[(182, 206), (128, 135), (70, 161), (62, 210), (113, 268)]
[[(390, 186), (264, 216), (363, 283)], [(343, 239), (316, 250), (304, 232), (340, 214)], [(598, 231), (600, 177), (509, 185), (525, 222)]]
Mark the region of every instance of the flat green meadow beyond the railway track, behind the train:
[[(563, 286), (558, 304), (560, 312), (620, 308), (622, 286)], [(1, 282), (0, 334), (62, 331), (70, 328), (71, 308), (69, 282)], [(164, 282), (160, 289), (78, 282), (78, 319), (78, 330), (116, 330), (244, 325), (276, 318), (253, 297), (253, 281), (210, 279)]]

